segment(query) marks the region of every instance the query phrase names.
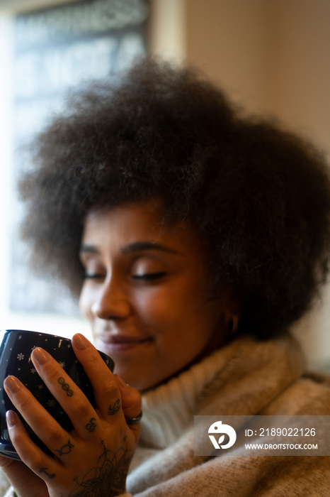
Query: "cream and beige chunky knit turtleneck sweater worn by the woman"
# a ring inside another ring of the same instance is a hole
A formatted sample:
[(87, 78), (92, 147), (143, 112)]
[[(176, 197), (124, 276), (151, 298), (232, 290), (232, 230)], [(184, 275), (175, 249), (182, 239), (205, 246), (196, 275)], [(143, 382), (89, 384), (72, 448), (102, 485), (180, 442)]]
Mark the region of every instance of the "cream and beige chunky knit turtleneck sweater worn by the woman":
[(143, 395), (125, 497), (329, 497), (329, 457), (193, 453), (194, 415), (330, 415), (329, 380), (304, 371), (289, 335), (242, 337)]

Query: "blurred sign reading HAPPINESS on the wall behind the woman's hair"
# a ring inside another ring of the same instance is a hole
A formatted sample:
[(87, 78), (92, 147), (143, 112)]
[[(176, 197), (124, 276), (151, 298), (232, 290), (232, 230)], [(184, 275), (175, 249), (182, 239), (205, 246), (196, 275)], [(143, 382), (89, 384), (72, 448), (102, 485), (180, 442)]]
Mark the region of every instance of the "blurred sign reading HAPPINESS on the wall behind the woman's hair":
[[(102, 80), (146, 53), (146, 0), (89, 0), (17, 15), (14, 21), (14, 183), (30, 164), (24, 146), (47, 116), (62, 108), (64, 94), (87, 80)], [(76, 312), (69, 293), (55, 281), (34, 277), (13, 208), (11, 308)]]

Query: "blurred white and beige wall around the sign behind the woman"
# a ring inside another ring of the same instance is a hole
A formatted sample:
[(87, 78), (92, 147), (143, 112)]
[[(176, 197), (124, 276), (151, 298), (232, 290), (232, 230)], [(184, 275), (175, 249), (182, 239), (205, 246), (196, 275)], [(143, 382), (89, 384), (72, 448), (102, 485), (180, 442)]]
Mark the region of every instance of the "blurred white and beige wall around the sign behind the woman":
[[(125, 0), (121, 0), (123, 3)], [(1, 212), (11, 174), (12, 80), (11, 29), (8, 18), (19, 12), (67, 4), (65, 0), (0, 0)], [(251, 113), (275, 116), (284, 126), (305, 134), (330, 152), (330, 2), (329, 0), (149, 0), (147, 50), (178, 64), (203, 70), (234, 102)], [(4, 98), (4, 95), (7, 97)], [(6, 185), (6, 187), (4, 187)], [(11, 226), (1, 216), (5, 242)], [(8, 308), (6, 290), (10, 250), (1, 255), (0, 325), (54, 329), (70, 335), (86, 324), (78, 317), (25, 315)], [(330, 367), (330, 291), (297, 324), (310, 364)]]

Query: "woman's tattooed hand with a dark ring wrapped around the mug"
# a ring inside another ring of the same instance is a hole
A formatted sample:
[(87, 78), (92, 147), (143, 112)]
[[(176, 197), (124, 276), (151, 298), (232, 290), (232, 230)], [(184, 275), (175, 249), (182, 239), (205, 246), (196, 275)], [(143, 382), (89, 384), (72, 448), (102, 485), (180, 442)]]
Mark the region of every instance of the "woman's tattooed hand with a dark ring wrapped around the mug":
[(7, 413), (11, 442), (23, 462), (0, 457), (0, 465), (19, 497), (111, 497), (125, 492), (140, 434), (140, 425), (128, 425), (126, 419), (139, 415), (140, 393), (113, 375), (81, 334), (73, 337), (72, 346), (90, 378), (96, 409), (50, 354), (43, 349), (31, 354), (40, 377), (69, 415), (72, 432), (66, 432), (17, 378), (9, 376), (4, 382), (13, 404), (53, 454), (48, 456), (33, 443), (16, 413)]

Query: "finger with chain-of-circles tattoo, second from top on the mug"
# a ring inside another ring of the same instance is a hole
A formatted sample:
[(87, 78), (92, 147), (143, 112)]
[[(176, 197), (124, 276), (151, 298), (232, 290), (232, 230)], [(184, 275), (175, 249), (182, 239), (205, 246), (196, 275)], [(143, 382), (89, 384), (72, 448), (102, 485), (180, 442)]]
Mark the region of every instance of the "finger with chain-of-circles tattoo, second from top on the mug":
[(86, 425), (91, 420), (95, 430), (98, 424), (96, 410), (57, 361), (40, 348), (33, 351), (31, 359), (47, 388), (69, 416), (76, 434), (81, 438), (86, 437), (89, 432)]

